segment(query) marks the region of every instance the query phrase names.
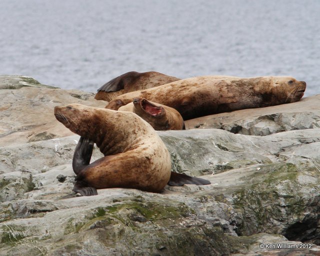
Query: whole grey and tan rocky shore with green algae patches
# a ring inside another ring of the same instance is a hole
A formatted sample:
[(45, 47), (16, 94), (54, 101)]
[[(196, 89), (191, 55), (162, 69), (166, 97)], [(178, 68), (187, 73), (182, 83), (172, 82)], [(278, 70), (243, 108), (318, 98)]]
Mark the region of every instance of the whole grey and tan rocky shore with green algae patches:
[(85, 197), (53, 107), (105, 102), (24, 76), (0, 94), (0, 255), (320, 255), (320, 95), (159, 131), (173, 170), (210, 185)]

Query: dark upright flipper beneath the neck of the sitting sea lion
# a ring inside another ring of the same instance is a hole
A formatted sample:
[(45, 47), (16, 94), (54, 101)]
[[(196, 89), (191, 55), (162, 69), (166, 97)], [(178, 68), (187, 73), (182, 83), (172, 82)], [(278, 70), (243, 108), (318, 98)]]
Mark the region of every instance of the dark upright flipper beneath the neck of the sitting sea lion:
[(80, 137), (77, 143), (72, 159), (72, 168), (75, 174), (90, 163), (94, 142), (88, 138)]

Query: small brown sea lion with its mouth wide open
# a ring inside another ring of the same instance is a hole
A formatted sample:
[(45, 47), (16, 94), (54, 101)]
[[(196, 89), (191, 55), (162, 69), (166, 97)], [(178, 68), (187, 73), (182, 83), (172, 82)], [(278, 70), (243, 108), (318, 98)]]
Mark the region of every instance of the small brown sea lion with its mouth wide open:
[(136, 113), (147, 121), (155, 130), (181, 130), (184, 129), (182, 116), (172, 107), (154, 103), (145, 98), (134, 98), (119, 111)]

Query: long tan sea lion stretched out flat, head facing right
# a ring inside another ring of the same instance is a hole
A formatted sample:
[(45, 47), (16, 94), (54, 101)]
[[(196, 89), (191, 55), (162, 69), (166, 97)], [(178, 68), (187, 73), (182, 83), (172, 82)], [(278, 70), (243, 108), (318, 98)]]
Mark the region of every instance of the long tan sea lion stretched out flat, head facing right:
[[(217, 78), (218, 77), (218, 78)], [(117, 96), (105, 107), (118, 109), (135, 97), (175, 108), (184, 120), (298, 101), (306, 83), (290, 76), (197, 76)]]

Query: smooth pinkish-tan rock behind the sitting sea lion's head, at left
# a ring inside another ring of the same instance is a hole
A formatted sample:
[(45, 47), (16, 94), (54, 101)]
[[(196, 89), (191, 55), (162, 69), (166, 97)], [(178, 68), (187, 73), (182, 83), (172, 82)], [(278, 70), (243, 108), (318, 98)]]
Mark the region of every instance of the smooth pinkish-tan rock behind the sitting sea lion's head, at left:
[(84, 91), (42, 85), (30, 77), (0, 76), (0, 146), (71, 135), (56, 121), (54, 106), (68, 103), (105, 106), (105, 101), (93, 96)]

